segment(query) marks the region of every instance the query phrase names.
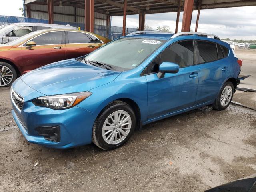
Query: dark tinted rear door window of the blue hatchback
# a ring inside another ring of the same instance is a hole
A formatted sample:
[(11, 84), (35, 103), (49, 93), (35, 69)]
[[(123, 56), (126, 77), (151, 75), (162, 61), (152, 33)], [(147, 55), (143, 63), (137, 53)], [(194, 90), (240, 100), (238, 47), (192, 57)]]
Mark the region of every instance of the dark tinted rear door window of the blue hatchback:
[(216, 43), (208, 41), (197, 41), (198, 45), (198, 64), (208, 63), (218, 60)]

